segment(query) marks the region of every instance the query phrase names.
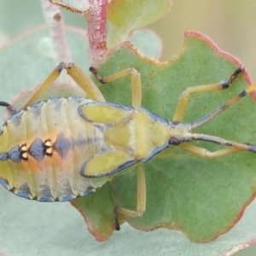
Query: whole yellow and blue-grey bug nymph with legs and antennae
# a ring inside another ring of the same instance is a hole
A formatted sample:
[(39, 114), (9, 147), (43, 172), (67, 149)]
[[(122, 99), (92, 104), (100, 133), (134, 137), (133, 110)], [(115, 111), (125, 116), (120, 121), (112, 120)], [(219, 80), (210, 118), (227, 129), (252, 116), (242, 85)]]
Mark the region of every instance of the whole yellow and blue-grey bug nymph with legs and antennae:
[[(38, 96), (63, 69), (90, 99), (55, 97), (37, 102)], [(108, 183), (114, 173), (136, 165), (137, 209), (115, 208), (114, 224), (119, 230), (118, 214), (141, 217), (145, 212), (143, 163), (155, 154), (172, 145), (207, 159), (245, 150), (256, 153), (256, 145), (193, 132), (193, 129), (256, 90), (256, 84), (203, 118), (192, 123), (181, 122), (191, 93), (229, 88), (243, 69), (238, 67), (224, 82), (184, 90), (173, 121), (168, 121), (141, 107), (142, 88), (136, 69), (125, 69), (102, 78), (95, 68), (90, 67), (96, 79), (103, 84), (131, 76), (132, 107), (127, 107), (105, 102), (100, 90), (79, 67), (61, 62), (20, 110), (7, 102), (0, 102), (0, 106), (12, 113), (0, 133), (0, 183), (5, 189), (26, 199), (71, 201), (95, 192)], [(226, 148), (210, 152), (189, 143), (191, 141), (207, 141)]]

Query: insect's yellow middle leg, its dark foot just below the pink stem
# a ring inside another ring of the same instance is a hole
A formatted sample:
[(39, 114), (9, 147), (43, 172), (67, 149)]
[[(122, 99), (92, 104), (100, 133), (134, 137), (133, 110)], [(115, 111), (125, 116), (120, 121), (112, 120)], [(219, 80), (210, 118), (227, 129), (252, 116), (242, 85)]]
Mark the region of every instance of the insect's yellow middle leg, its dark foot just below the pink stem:
[(90, 67), (90, 72), (93, 73), (96, 79), (102, 84), (107, 84), (113, 80), (123, 78), (125, 76), (131, 75), (131, 94), (132, 94), (132, 107), (140, 108), (142, 105), (142, 84), (140, 73), (137, 72), (135, 68), (127, 68), (120, 71), (119, 73), (114, 73), (111, 76), (102, 78), (99, 73), (97, 73), (94, 67)]

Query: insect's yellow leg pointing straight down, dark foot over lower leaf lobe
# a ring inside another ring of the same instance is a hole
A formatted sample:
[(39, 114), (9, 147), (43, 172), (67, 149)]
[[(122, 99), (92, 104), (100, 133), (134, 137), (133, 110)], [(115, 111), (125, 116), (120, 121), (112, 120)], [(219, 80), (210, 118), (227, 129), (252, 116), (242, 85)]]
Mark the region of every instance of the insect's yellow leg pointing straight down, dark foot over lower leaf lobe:
[(139, 164), (136, 167), (137, 172), (137, 208), (135, 211), (128, 210), (123, 207), (116, 207), (113, 211), (113, 220), (115, 224), (115, 229), (119, 230), (118, 213), (125, 216), (130, 216), (133, 218), (140, 218), (143, 216), (146, 208), (146, 179), (143, 170), (143, 164)]

